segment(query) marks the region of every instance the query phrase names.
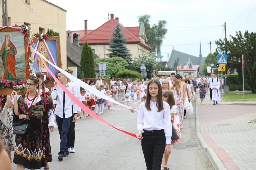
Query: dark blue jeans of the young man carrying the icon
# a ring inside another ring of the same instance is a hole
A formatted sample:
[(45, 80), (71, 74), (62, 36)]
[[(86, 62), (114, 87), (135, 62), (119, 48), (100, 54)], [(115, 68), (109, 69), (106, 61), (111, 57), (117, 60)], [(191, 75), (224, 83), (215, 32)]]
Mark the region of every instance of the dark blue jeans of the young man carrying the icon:
[(68, 146), (67, 146), (67, 136), (69, 132), (69, 118), (60, 118), (56, 115), (56, 122), (59, 129), (59, 136), (60, 136), (60, 149), (59, 154), (65, 155), (65, 152), (68, 153)]

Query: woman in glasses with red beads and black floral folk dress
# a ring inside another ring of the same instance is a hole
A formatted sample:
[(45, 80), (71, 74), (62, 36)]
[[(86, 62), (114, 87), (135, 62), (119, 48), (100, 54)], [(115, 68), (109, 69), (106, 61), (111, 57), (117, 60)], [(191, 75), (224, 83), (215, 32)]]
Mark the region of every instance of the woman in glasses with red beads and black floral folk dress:
[[(45, 148), (42, 131), (44, 98), (37, 92), (39, 79), (34, 75), (26, 82), (27, 92), (17, 100), (17, 92), (12, 91), (14, 98), (14, 125), (20, 120), (21, 125), (27, 124), (27, 131), (16, 133), (13, 162), (18, 170), (40, 169), (45, 167)], [(13, 125), (13, 126), (14, 126)], [(14, 126), (14, 129), (18, 126)], [(17, 130), (18, 131), (18, 130)], [(18, 135), (19, 134), (19, 135)]]

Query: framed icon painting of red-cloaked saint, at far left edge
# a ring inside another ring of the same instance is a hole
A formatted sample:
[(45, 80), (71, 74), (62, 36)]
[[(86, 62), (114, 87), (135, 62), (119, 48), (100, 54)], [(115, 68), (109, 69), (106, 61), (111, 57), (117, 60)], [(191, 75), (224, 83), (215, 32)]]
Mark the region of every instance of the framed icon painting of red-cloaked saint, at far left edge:
[(0, 27), (0, 39), (0, 79), (26, 81), (29, 74), (27, 36), (15, 27)]

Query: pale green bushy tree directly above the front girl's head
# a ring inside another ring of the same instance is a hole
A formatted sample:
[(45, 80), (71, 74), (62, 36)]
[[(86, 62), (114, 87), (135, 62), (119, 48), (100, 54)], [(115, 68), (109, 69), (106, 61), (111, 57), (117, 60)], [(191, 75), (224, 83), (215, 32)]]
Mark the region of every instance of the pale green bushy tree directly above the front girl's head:
[(153, 78), (154, 71), (157, 69), (157, 64), (158, 64), (156, 62), (155, 53), (145, 53), (142, 56), (135, 58), (135, 61), (132, 64), (130, 64), (129, 69), (137, 72), (141, 72), (140, 67), (142, 64), (144, 64), (147, 68), (146, 78), (149, 78), (149, 79)]

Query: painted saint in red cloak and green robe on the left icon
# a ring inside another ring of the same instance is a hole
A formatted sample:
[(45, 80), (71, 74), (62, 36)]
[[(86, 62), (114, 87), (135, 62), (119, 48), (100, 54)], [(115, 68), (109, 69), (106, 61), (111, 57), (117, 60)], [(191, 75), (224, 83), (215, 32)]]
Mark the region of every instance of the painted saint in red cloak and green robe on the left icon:
[(3, 79), (17, 80), (16, 79), (16, 59), (17, 49), (10, 40), (10, 34), (4, 35), (4, 43), (0, 50), (3, 67)]

